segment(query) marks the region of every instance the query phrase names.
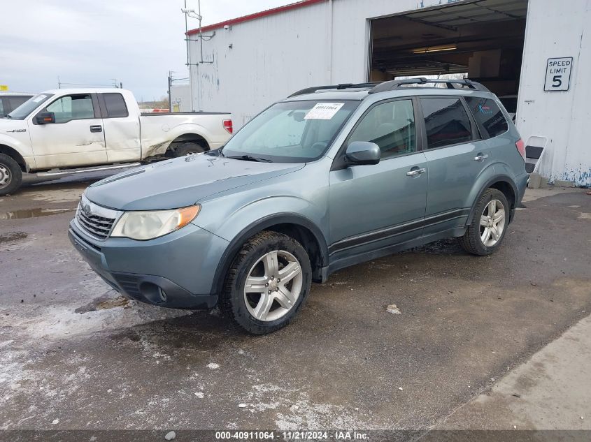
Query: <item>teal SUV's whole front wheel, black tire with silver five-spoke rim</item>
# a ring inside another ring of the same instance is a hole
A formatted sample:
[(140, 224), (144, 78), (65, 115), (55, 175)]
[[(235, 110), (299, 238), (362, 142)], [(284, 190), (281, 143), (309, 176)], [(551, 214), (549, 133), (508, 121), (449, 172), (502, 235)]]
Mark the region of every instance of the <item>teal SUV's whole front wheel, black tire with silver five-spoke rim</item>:
[(301, 308), (311, 274), (310, 258), (299, 242), (281, 233), (258, 233), (234, 258), (220, 307), (249, 333), (274, 332)]

